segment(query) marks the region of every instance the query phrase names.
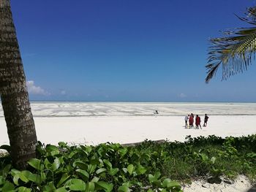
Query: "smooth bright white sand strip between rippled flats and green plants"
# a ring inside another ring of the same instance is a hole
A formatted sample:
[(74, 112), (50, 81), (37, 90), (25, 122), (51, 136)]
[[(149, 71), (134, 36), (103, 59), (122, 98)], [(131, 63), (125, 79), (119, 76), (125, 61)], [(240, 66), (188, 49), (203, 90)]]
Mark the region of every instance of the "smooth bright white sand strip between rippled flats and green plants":
[[(37, 139), (48, 144), (59, 141), (70, 144), (97, 145), (102, 142), (141, 142), (145, 139), (184, 141), (192, 137), (215, 134), (219, 137), (256, 134), (254, 115), (210, 116), (202, 129), (184, 128), (183, 116), (146, 117), (52, 117), (34, 118)], [(8, 144), (4, 118), (0, 118), (0, 145)]]

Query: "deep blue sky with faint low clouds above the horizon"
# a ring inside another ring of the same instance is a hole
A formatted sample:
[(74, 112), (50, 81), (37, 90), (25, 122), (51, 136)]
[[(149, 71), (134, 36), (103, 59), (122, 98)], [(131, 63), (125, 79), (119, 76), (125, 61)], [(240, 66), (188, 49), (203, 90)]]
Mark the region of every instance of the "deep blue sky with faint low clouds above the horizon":
[(11, 0), (31, 101), (256, 101), (256, 65), (204, 82), (249, 0)]

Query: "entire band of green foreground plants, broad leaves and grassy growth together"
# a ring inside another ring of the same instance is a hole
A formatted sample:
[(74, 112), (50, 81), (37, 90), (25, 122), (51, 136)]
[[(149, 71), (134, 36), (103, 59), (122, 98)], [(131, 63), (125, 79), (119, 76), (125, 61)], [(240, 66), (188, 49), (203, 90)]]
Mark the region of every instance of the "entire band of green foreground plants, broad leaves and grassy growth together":
[[(181, 191), (180, 183), (206, 177), (256, 177), (256, 135), (187, 137), (186, 142), (145, 141), (135, 147), (37, 146), (27, 170), (0, 157), (0, 191)], [(7, 146), (3, 148), (8, 149)]]

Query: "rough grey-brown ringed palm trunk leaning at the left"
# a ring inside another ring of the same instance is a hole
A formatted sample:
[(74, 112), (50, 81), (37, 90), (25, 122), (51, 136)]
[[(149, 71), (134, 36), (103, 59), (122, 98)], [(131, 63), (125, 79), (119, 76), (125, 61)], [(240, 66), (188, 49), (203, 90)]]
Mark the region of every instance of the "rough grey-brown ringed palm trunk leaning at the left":
[(10, 0), (0, 0), (0, 94), (12, 163), (25, 169), (26, 161), (35, 157), (37, 135)]

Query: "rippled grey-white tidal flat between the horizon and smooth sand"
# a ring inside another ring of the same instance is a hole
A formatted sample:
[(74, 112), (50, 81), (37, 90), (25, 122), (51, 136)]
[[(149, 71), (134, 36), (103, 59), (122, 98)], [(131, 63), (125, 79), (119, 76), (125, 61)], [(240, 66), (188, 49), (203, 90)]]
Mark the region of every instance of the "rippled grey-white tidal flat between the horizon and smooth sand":
[(34, 117), (256, 115), (256, 103), (31, 102), (31, 109)]

